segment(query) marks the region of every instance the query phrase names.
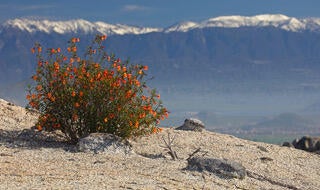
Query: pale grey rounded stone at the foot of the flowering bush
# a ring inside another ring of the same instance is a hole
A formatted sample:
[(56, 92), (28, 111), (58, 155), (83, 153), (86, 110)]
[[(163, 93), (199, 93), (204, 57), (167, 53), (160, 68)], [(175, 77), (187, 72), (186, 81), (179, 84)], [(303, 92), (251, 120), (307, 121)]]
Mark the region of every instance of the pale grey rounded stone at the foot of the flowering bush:
[(126, 140), (107, 133), (91, 133), (87, 137), (79, 139), (77, 144), (80, 152), (97, 153), (133, 153), (132, 146)]

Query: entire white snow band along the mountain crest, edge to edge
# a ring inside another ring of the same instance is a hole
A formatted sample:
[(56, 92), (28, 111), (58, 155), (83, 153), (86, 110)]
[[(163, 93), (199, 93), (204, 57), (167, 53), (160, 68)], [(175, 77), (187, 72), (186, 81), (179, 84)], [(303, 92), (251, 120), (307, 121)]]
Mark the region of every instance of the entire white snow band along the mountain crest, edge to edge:
[[(168, 28), (137, 27), (122, 24), (108, 24), (104, 22), (89, 22), (86, 20), (49, 21), (36, 19), (13, 19), (8, 20), (2, 28), (17, 28), (34, 33), (95, 33), (100, 32), (108, 35), (145, 34), (150, 32), (188, 32), (196, 28), (238, 28), (238, 27), (267, 27), (272, 26), (286, 31), (299, 32), (304, 30), (320, 31), (320, 18), (297, 19), (281, 14), (264, 14), (256, 16), (220, 16), (210, 18), (202, 22), (181, 22)], [(1, 26), (0, 26), (1, 30)]]

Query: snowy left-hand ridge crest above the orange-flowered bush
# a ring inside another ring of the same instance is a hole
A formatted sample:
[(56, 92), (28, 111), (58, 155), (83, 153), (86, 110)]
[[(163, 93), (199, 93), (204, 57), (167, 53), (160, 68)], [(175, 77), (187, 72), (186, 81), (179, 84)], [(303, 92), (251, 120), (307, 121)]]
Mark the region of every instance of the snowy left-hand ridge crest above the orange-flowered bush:
[(30, 20), (30, 19), (13, 19), (3, 24), (3, 27), (14, 27), (20, 30), (45, 33), (93, 33), (100, 32), (103, 34), (144, 34), (149, 32), (160, 31), (158, 28), (143, 28), (136, 26), (128, 26), (122, 24), (108, 24), (104, 22), (89, 22), (86, 20), (70, 20), (70, 21), (49, 21), (49, 20)]

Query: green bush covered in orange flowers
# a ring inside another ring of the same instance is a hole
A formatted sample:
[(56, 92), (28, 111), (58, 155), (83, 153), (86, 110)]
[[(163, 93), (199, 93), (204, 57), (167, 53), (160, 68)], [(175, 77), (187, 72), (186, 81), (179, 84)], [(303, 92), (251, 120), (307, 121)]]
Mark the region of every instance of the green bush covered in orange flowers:
[(146, 85), (148, 66), (122, 62), (104, 51), (105, 35), (97, 35), (78, 56), (79, 38), (67, 51), (50, 48), (47, 56), (35, 44), (38, 66), (28, 89), (28, 105), (39, 110), (38, 130), (61, 130), (70, 141), (94, 132), (123, 138), (159, 131), (156, 124), (168, 117), (156, 90)]

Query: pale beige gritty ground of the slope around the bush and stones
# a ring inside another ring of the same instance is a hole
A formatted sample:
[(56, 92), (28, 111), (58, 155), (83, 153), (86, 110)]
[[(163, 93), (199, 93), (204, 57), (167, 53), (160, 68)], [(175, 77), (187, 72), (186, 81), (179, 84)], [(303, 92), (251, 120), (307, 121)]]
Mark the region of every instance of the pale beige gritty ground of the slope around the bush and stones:
[[(61, 134), (37, 132), (35, 113), (0, 100), (0, 189), (320, 189), (320, 156), (208, 132), (163, 132), (132, 139), (133, 153), (84, 153)], [(174, 138), (166, 153), (163, 139)], [(187, 169), (204, 157), (245, 167), (244, 179)]]

